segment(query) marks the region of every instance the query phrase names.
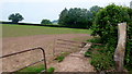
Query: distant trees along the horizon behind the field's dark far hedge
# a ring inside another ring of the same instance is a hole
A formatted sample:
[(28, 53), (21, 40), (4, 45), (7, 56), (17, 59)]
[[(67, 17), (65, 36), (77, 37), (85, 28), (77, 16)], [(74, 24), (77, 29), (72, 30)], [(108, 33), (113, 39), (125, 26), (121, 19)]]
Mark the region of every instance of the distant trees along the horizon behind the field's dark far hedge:
[[(54, 21), (58, 22), (58, 25), (68, 26), (68, 27), (78, 27), (78, 28), (89, 28), (92, 24), (94, 16), (96, 13), (102, 8), (98, 5), (91, 7), (89, 10), (80, 9), (80, 8), (70, 8), (67, 10), (66, 8), (61, 12), (59, 18)], [(12, 23), (16, 24), (20, 21), (24, 20), (24, 17), (20, 13), (13, 13), (9, 15), (9, 20)], [(53, 22), (53, 23), (54, 23)], [(52, 24), (50, 20), (42, 20), (41, 25)]]

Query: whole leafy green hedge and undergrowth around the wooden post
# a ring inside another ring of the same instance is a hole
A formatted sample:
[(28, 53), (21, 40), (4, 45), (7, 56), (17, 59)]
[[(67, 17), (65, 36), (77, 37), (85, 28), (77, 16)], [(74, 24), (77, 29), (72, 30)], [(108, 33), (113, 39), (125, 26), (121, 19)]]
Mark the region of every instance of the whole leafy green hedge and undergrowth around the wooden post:
[(128, 23), (127, 52), (124, 65), (132, 70), (132, 9), (110, 4), (99, 11), (92, 25), (92, 35), (99, 38), (90, 40), (103, 46), (92, 46), (90, 53), (91, 64), (98, 71), (112, 70), (114, 67), (113, 54), (118, 44), (118, 23)]

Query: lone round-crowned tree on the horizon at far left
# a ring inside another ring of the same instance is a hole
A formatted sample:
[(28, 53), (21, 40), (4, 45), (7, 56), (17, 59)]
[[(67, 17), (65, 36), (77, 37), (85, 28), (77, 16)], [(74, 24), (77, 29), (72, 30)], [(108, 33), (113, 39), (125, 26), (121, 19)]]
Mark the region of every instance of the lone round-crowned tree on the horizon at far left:
[(24, 20), (24, 17), (20, 13), (15, 13), (15, 14), (9, 15), (9, 20), (11, 20), (12, 23), (18, 23), (19, 21)]

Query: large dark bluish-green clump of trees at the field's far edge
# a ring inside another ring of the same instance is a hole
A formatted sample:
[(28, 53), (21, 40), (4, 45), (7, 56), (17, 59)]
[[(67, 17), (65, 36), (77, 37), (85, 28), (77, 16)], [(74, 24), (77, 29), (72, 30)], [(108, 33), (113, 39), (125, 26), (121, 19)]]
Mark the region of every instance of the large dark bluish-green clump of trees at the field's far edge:
[(101, 8), (91, 7), (90, 10), (80, 8), (66, 8), (61, 12), (58, 24), (76, 28), (90, 28), (94, 17)]

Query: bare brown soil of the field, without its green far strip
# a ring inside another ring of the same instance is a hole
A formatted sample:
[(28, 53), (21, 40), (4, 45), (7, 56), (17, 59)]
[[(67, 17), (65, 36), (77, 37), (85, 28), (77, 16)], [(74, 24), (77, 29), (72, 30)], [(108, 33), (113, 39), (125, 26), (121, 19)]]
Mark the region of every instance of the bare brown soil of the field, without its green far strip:
[[(42, 48), (45, 49), (46, 60), (47, 63), (50, 63), (50, 61), (53, 58), (52, 49), (53, 49), (54, 39), (57, 38), (69, 39), (69, 40), (76, 38), (76, 40), (85, 41), (91, 37), (88, 34), (61, 34), (61, 35), (36, 35), (36, 36), (28, 36), (28, 37), (3, 38), (2, 54), (8, 54), (28, 48), (41, 46)], [(11, 57), (10, 59), (9, 58), (3, 59), (2, 69), (3, 71), (16, 70), (20, 66), (37, 61), (38, 59), (41, 59), (40, 55), (41, 55), (40, 51), (33, 51), (33, 52), (28, 52), (25, 54), (23, 53), (16, 55), (15, 58)]]

